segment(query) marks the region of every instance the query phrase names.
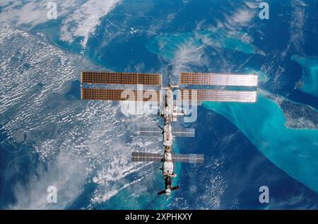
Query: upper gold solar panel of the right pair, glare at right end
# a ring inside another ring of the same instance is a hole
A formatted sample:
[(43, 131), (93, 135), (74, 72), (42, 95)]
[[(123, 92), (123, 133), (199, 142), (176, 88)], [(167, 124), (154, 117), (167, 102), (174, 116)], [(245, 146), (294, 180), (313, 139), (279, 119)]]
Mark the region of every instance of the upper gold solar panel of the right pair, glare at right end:
[(181, 73), (179, 84), (211, 86), (257, 86), (257, 76), (248, 74)]

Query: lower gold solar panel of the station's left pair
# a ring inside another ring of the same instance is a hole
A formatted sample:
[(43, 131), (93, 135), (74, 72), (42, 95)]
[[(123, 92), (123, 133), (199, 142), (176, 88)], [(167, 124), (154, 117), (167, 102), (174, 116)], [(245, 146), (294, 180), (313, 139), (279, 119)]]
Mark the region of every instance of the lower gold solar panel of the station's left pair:
[(112, 100), (112, 101), (151, 101), (159, 102), (158, 90), (112, 90), (81, 88), (82, 100)]

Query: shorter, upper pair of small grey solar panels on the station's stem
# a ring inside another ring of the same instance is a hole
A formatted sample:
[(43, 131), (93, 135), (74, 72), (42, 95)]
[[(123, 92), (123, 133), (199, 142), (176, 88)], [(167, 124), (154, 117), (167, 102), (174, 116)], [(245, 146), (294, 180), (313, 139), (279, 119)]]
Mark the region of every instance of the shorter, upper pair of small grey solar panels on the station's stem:
[[(139, 135), (141, 136), (161, 136), (163, 130), (160, 128), (141, 127), (139, 129)], [(173, 129), (172, 135), (175, 137), (191, 137), (195, 136), (195, 129)]]

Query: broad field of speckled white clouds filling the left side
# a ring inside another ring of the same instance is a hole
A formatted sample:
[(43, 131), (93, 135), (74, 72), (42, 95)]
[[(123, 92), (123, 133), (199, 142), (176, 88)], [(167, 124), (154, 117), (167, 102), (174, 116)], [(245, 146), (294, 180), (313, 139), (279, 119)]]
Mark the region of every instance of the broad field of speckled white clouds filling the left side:
[[(122, 189), (118, 181), (126, 184), (126, 175), (141, 167), (131, 163), (130, 149), (158, 150), (160, 143), (155, 138), (147, 139), (146, 145), (142, 144), (145, 138), (130, 136), (136, 124), (155, 125), (153, 117), (124, 117), (119, 105), (80, 102), (72, 99), (76, 95), (66, 97), (83, 68), (100, 67), (29, 33), (4, 26), (0, 26), (0, 48), (0, 95), (4, 95), (0, 98), (0, 122), (10, 136), (8, 141), (21, 142), (25, 134), (23, 144), (32, 146), (41, 161), (52, 161), (45, 170), (39, 165), (37, 175), (25, 177), (29, 186), (21, 183), (13, 187), (16, 204), (10, 208), (65, 208), (90, 181), (97, 188), (93, 198), (107, 200), (110, 196), (105, 192)], [(8, 55), (16, 55), (18, 62), (12, 63)], [(32, 69), (21, 71), (23, 65)], [(46, 203), (50, 185), (58, 189), (57, 205)]]

